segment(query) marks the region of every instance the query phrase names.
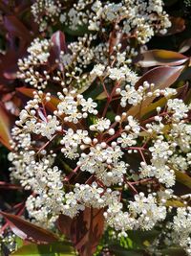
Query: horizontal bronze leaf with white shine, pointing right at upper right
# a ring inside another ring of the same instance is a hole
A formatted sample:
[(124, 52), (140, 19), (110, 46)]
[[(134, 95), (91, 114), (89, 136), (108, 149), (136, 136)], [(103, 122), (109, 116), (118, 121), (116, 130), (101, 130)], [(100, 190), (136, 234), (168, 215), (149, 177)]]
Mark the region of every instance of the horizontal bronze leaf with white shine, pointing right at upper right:
[(139, 56), (138, 64), (142, 67), (151, 67), (157, 65), (175, 66), (184, 63), (188, 58), (180, 53), (166, 50), (151, 50), (142, 53)]

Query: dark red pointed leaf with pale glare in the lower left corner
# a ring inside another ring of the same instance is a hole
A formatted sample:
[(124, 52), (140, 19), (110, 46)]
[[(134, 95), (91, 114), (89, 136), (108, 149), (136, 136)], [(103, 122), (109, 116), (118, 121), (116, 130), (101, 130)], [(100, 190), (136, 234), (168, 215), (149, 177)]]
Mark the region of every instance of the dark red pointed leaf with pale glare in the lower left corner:
[(12, 214), (5, 212), (0, 212), (0, 214), (7, 219), (12, 232), (25, 241), (37, 244), (49, 244), (58, 241), (58, 238), (49, 230)]

